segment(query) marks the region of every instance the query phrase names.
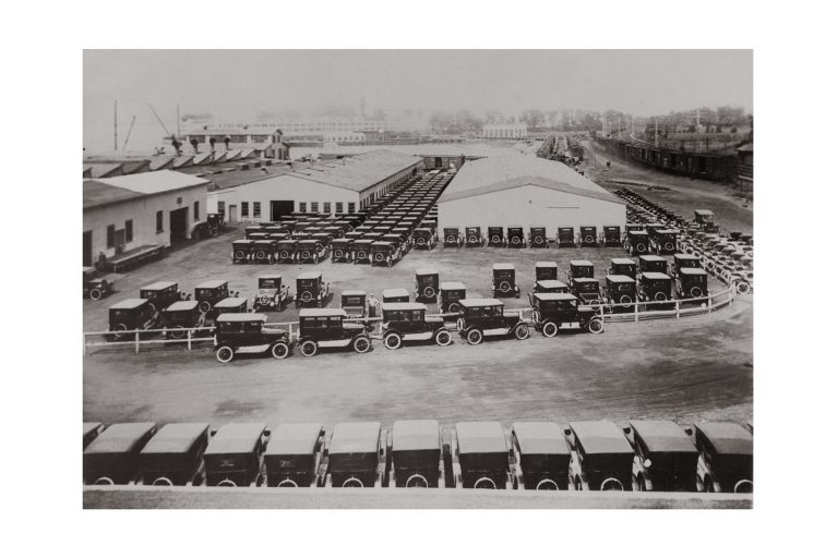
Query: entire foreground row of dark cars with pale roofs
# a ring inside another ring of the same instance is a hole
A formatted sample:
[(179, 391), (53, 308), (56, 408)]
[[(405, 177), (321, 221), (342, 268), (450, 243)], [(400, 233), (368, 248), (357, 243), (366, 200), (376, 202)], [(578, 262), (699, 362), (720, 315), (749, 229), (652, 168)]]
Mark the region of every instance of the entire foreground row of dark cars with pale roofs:
[(87, 485), (753, 492), (735, 423), (85, 423)]

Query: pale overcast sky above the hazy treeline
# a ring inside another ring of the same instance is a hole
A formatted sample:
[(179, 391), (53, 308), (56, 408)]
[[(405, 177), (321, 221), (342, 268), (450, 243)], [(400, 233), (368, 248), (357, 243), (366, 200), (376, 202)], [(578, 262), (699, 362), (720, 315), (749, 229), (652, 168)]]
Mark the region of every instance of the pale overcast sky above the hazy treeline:
[(753, 106), (750, 50), (88, 50), (84, 143), (129, 150), (160, 143), (181, 114), (252, 119), (258, 110), (324, 106), (477, 113), (526, 108), (615, 109), (637, 116), (699, 106)]

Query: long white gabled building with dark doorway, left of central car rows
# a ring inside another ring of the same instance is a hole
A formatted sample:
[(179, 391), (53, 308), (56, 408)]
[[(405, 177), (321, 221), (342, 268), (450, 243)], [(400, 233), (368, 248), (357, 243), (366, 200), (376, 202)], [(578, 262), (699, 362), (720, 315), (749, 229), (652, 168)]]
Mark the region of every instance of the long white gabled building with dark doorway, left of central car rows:
[[(294, 211), (343, 214), (366, 208), (422, 171), (423, 159), (386, 149), (254, 175), (247, 183), (211, 186), (211, 213), (230, 222), (276, 221)], [(211, 181), (212, 175), (207, 177)], [(234, 177), (235, 178), (235, 177)]]

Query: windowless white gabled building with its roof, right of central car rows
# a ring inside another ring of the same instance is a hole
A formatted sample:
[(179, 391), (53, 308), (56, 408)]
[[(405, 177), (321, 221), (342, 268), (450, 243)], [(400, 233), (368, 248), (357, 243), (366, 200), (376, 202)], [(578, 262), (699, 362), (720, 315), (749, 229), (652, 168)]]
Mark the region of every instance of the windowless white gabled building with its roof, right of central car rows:
[(528, 155), (488, 157), (466, 162), (439, 199), (439, 227), (607, 226), (625, 230), (625, 203), (559, 161)]

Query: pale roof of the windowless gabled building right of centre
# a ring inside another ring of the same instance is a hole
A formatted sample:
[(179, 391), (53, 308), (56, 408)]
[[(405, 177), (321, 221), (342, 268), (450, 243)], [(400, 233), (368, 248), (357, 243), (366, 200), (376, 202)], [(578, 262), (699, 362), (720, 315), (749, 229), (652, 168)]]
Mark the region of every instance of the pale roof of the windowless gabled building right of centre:
[(568, 194), (625, 205), (563, 162), (529, 155), (504, 155), (469, 161), (440, 196), (440, 203), (534, 184)]

